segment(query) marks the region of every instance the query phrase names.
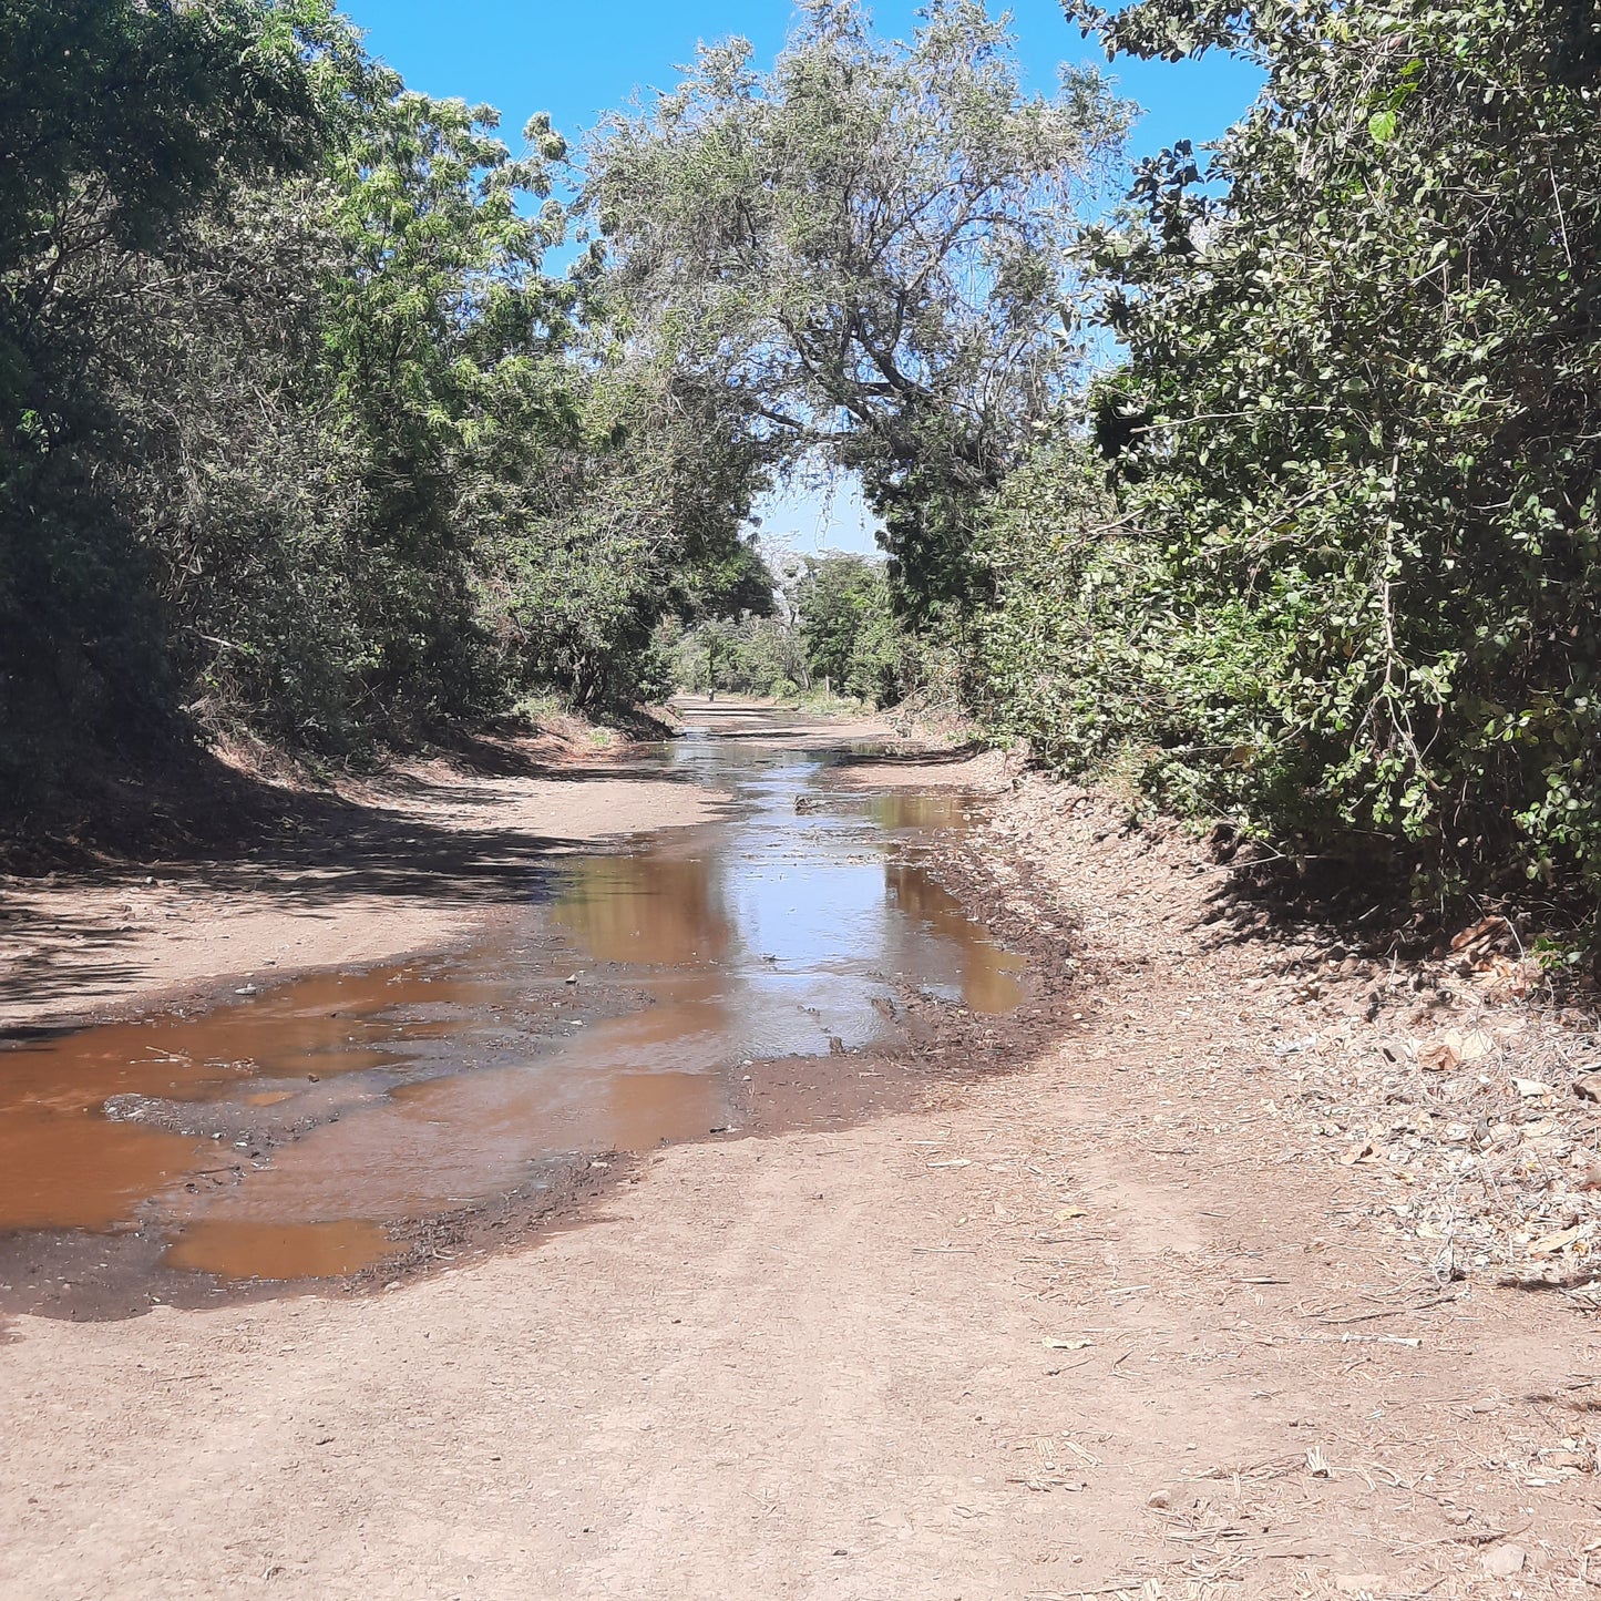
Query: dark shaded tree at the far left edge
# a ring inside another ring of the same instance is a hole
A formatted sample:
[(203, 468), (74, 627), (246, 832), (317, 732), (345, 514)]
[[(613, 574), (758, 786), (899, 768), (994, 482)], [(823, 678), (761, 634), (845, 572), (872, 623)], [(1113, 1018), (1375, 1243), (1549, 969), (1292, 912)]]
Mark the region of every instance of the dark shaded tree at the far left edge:
[[(0, 767), (168, 703), (152, 552), (118, 496), (107, 360), (149, 266), (234, 175), (315, 163), (338, 29), (315, 3), (0, 6)], [(115, 469), (115, 471), (114, 471)]]

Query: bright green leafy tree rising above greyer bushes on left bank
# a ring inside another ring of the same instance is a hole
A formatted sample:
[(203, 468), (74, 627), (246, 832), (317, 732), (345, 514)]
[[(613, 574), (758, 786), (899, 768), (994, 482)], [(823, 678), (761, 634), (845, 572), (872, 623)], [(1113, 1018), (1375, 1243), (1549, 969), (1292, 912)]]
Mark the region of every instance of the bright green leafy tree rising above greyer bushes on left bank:
[(552, 445), (573, 447), (567, 295), (540, 271), (562, 237), (544, 122), (512, 158), (498, 114), (373, 70), (330, 162), (343, 269), (325, 288), (327, 381), (360, 467), (367, 583), (355, 700), (440, 716), (492, 695), (474, 578), (487, 528)]

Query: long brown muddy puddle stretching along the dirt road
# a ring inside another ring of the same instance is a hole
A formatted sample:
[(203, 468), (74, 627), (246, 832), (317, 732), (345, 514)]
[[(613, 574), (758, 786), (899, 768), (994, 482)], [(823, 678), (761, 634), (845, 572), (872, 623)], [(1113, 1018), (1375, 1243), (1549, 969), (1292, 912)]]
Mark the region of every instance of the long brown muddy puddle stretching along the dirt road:
[(653, 762), (724, 817), (552, 863), (464, 951), (0, 1052), (0, 1236), (349, 1274), (408, 1220), (728, 1129), (754, 1060), (893, 1045), (908, 993), (1013, 1010), (1021, 961), (925, 871), (970, 804), (833, 760), (692, 735)]

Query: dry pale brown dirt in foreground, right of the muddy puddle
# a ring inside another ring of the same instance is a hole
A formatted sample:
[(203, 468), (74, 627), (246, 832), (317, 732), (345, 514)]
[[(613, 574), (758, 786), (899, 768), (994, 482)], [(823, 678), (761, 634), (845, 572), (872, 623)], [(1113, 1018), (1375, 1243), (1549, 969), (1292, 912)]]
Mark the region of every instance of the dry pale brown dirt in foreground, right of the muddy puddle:
[(381, 1295), (16, 1319), (0, 1595), (1588, 1593), (1593, 1314), (1441, 1262), (1377, 1129), (1423, 1068), (1319, 1132), (1396, 1028), (1361, 962), (1310, 981), (1198, 847), (1034, 781), (948, 871), (1074, 964), (1010, 1073)]

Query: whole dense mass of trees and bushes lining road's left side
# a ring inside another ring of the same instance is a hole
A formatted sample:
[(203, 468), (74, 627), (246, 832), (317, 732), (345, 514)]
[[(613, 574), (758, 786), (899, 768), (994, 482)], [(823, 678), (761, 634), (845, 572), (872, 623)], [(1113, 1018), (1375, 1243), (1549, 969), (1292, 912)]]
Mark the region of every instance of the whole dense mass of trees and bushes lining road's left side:
[(0, 80), (8, 800), (197, 720), (629, 701), (764, 591), (738, 415), (541, 271), (546, 120), (514, 158), (320, 0), (6, 0)]

